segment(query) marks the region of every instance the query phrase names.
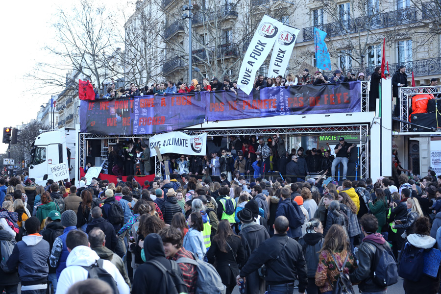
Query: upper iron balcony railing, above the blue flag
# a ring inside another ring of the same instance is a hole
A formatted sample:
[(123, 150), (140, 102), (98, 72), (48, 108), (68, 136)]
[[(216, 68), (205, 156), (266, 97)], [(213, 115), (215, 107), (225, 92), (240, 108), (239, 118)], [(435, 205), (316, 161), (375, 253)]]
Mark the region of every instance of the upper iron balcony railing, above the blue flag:
[[(409, 7), (400, 10), (380, 13), (374, 16), (335, 22), (316, 26), (325, 31), (328, 37), (335, 37), (378, 28), (417, 23), (417, 8)], [(314, 40), (314, 26), (303, 28), (303, 42)]]

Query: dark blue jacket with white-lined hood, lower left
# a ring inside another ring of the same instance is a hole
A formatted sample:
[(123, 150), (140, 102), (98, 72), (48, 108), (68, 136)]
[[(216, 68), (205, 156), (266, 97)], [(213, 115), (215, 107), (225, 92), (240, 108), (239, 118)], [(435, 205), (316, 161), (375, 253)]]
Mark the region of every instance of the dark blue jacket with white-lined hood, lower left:
[(42, 236), (24, 236), (9, 256), (9, 270), (18, 267), (22, 286), (46, 284), (49, 274), (49, 243)]

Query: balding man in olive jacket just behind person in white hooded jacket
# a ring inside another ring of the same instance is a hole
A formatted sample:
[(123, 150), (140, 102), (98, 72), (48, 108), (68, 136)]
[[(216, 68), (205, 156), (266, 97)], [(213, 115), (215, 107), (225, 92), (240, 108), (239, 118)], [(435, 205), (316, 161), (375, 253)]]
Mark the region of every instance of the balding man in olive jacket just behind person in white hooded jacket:
[(118, 254), (112, 252), (109, 248), (107, 248), (106, 245), (106, 234), (99, 229), (98, 227), (93, 228), (89, 232), (89, 243), (92, 250), (97, 252), (99, 258), (105, 259), (110, 261), (117, 267), (117, 269), (120, 271), (121, 275), (123, 276), (125, 282), (127, 285), (130, 286), (130, 279), (127, 275), (127, 271), (125, 270), (123, 260), (121, 257), (118, 256)]

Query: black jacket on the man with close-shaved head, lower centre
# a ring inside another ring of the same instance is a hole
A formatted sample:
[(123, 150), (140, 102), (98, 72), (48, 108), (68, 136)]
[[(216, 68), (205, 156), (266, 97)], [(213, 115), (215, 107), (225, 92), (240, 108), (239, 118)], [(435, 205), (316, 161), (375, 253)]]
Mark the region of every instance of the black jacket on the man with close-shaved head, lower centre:
[(269, 285), (293, 283), (298, 279), (298, 292), (305, 292), (308, 284), (306, 262), (297, 241), (286, 234), (274, 234), (253, 251), (240, 276), (245, 277), (264, 264), (268, 270), (265, 280)]

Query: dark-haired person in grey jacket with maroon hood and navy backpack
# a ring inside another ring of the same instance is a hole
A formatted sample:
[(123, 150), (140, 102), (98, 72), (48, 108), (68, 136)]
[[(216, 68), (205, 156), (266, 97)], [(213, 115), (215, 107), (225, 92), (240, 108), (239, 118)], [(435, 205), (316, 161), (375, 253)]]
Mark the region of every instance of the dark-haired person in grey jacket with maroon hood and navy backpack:
[(361, 293), (386, 294), (398, 281), (398, 269), (389, 243), (378, 233), (378, 219), (367, 214), (360, 219), (365, 238), (358, 246), (358, 268), (349, 277)]

